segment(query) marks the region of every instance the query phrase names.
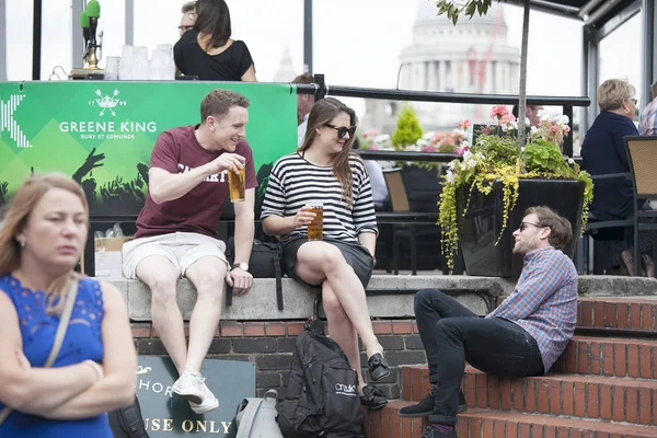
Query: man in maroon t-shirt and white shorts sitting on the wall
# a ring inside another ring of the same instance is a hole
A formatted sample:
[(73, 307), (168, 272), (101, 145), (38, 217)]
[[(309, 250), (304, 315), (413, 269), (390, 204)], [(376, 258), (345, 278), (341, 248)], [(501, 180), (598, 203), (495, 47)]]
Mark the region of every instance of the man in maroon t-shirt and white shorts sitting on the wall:
[[(148, 285), (153, 327), (180, 378), (173, 392), (204, 414), (219, 405), (204, 383), (200, 365), (221, 315), (223, 281), (237, 296), (253, 285), (249, 257), (254, 233), (257, 182), (244, 141), (249, 100), (214, 90), (200, 104), (200, 124), (162, 132), (151, 153), (146, 205), (135, 239), (124, 244), (124, 274)], [(230, 269), (217, 222), (229, 195), (228, 172), (245, 169), (245, 200), (234, 203), (235, 263)], [(189, 321), (189, 346), (176, 303), (176, 280), (187, 277), (198, 292)]]

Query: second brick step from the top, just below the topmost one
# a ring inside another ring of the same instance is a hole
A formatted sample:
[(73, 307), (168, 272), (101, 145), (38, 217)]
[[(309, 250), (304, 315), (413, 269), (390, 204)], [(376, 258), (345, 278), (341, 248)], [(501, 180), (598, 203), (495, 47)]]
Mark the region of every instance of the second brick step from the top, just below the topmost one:
[(657, 379), (657, 341), (574, 336), (550, 372)]

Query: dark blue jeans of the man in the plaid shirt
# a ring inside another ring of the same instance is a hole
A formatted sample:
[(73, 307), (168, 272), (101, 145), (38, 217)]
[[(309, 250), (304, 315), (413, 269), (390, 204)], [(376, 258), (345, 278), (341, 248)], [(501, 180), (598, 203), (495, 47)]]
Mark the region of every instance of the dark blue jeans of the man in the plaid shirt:
[(543, 373), (539, 345), (522, 327), (502, 318), (480, 318), (440, 290), (415, 295), (415, 320), (427, 353), (429, 381), (438, 385), (430, 423), (457, 423), (465, 360), (494, 376)]

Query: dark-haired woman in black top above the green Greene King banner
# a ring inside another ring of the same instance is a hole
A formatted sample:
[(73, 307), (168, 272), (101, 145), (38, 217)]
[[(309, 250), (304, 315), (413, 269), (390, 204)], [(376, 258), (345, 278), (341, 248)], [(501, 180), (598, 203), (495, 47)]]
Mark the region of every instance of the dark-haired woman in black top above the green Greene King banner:
[(173, 47), (177, 70), (205, 81), (255, 82), (255, 67), (249, 48), (230, 35), (230, 12), (226, 1), (198, 0), (194, 27)]

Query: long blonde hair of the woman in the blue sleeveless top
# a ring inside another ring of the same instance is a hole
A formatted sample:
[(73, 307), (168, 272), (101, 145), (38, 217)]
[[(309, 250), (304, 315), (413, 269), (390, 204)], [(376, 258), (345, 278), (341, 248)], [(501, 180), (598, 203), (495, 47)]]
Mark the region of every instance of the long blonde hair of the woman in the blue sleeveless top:
[[(30, 214), (34, 210), (38, 201), (51, 188), (61, 188), (72, 193), (80, 198), (87, 222), (89, 222), (89, 206), (84, 192), (80, 185), (71, 177), (61, 173), (46, 173), (42, 175), (32, 175), (23, 183), (11, 198), (0, 227), (0, 275), (9, 274), (21, 267), (21, 246), (16, 241), (19, 234), (25, 228)], [(59, 278), (56, 278), (45, 292), (48, 293), (48, 312), (59, 312), (64, 307), (64, 300), (59, 300), (57, 306), (51, 306), (57, 297), (61, 297), (71, 279), (80, 276), (71, 270)]]

